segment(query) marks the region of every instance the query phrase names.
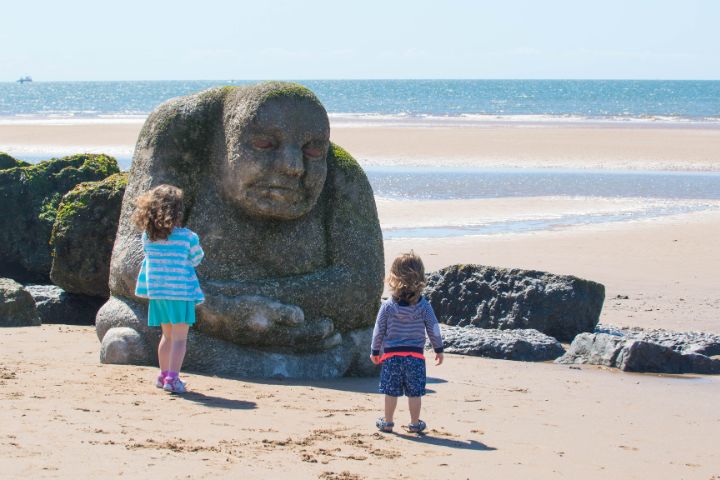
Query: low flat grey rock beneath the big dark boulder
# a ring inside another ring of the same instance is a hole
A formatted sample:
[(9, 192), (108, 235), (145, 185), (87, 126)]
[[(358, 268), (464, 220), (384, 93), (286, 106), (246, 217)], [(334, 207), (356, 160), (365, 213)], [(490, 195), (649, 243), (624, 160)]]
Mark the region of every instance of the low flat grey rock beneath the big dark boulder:
[(441, 325), (447, 353), (477, 357), (543, 362), (555, 360), (565, 349), (556, 339), (534, 329), (497, 330)]

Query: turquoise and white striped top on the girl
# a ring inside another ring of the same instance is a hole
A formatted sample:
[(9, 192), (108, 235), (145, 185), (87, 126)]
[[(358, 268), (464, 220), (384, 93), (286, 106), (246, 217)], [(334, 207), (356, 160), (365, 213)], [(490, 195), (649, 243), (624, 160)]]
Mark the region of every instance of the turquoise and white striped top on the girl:
[(205, 255), (197, 234), (187, 228), (173, 228), (165, 240), (154, 242), (142, 236), (145, 259), (140, 267), (135, 295), (151, 300), (185, 300), (202, 303), (195, 267)]

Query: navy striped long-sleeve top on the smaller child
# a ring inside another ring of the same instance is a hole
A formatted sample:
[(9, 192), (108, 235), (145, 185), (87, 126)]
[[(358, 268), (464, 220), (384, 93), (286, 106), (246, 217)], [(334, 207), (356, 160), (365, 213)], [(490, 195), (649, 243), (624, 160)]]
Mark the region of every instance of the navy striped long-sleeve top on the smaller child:
[(381, 351), (423, 353), (426, 332), (433, 350), (442, 352), (440, 325), (430, 302), (421, 297), (416, 304), (409, 305), (388, 298), (375, 320), (372, 355), (380, 355)]

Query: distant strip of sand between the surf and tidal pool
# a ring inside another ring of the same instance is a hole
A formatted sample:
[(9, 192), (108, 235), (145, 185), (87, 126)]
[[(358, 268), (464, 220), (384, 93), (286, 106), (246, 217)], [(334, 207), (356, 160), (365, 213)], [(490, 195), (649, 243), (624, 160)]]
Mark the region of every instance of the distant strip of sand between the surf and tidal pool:
[[(18, 156), (105, 151), (130, 157), (141, 127), (141, 120), (0, 122), (0, 151)], [(331, 139), (363, 165), (720, 170), (717, 127), (346, 125), (332, 126)]]

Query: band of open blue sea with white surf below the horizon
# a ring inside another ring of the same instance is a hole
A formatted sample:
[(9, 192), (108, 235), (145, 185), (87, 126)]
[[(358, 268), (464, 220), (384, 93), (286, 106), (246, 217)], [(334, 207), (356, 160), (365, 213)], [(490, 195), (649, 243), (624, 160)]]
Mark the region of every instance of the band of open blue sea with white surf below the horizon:
[[(716, 80), (299, 80), (331, 121), (382, 125), (720, 125)], [(249, 80), (0, 83), (0, 121), (142, 121), (162, 102)]]

